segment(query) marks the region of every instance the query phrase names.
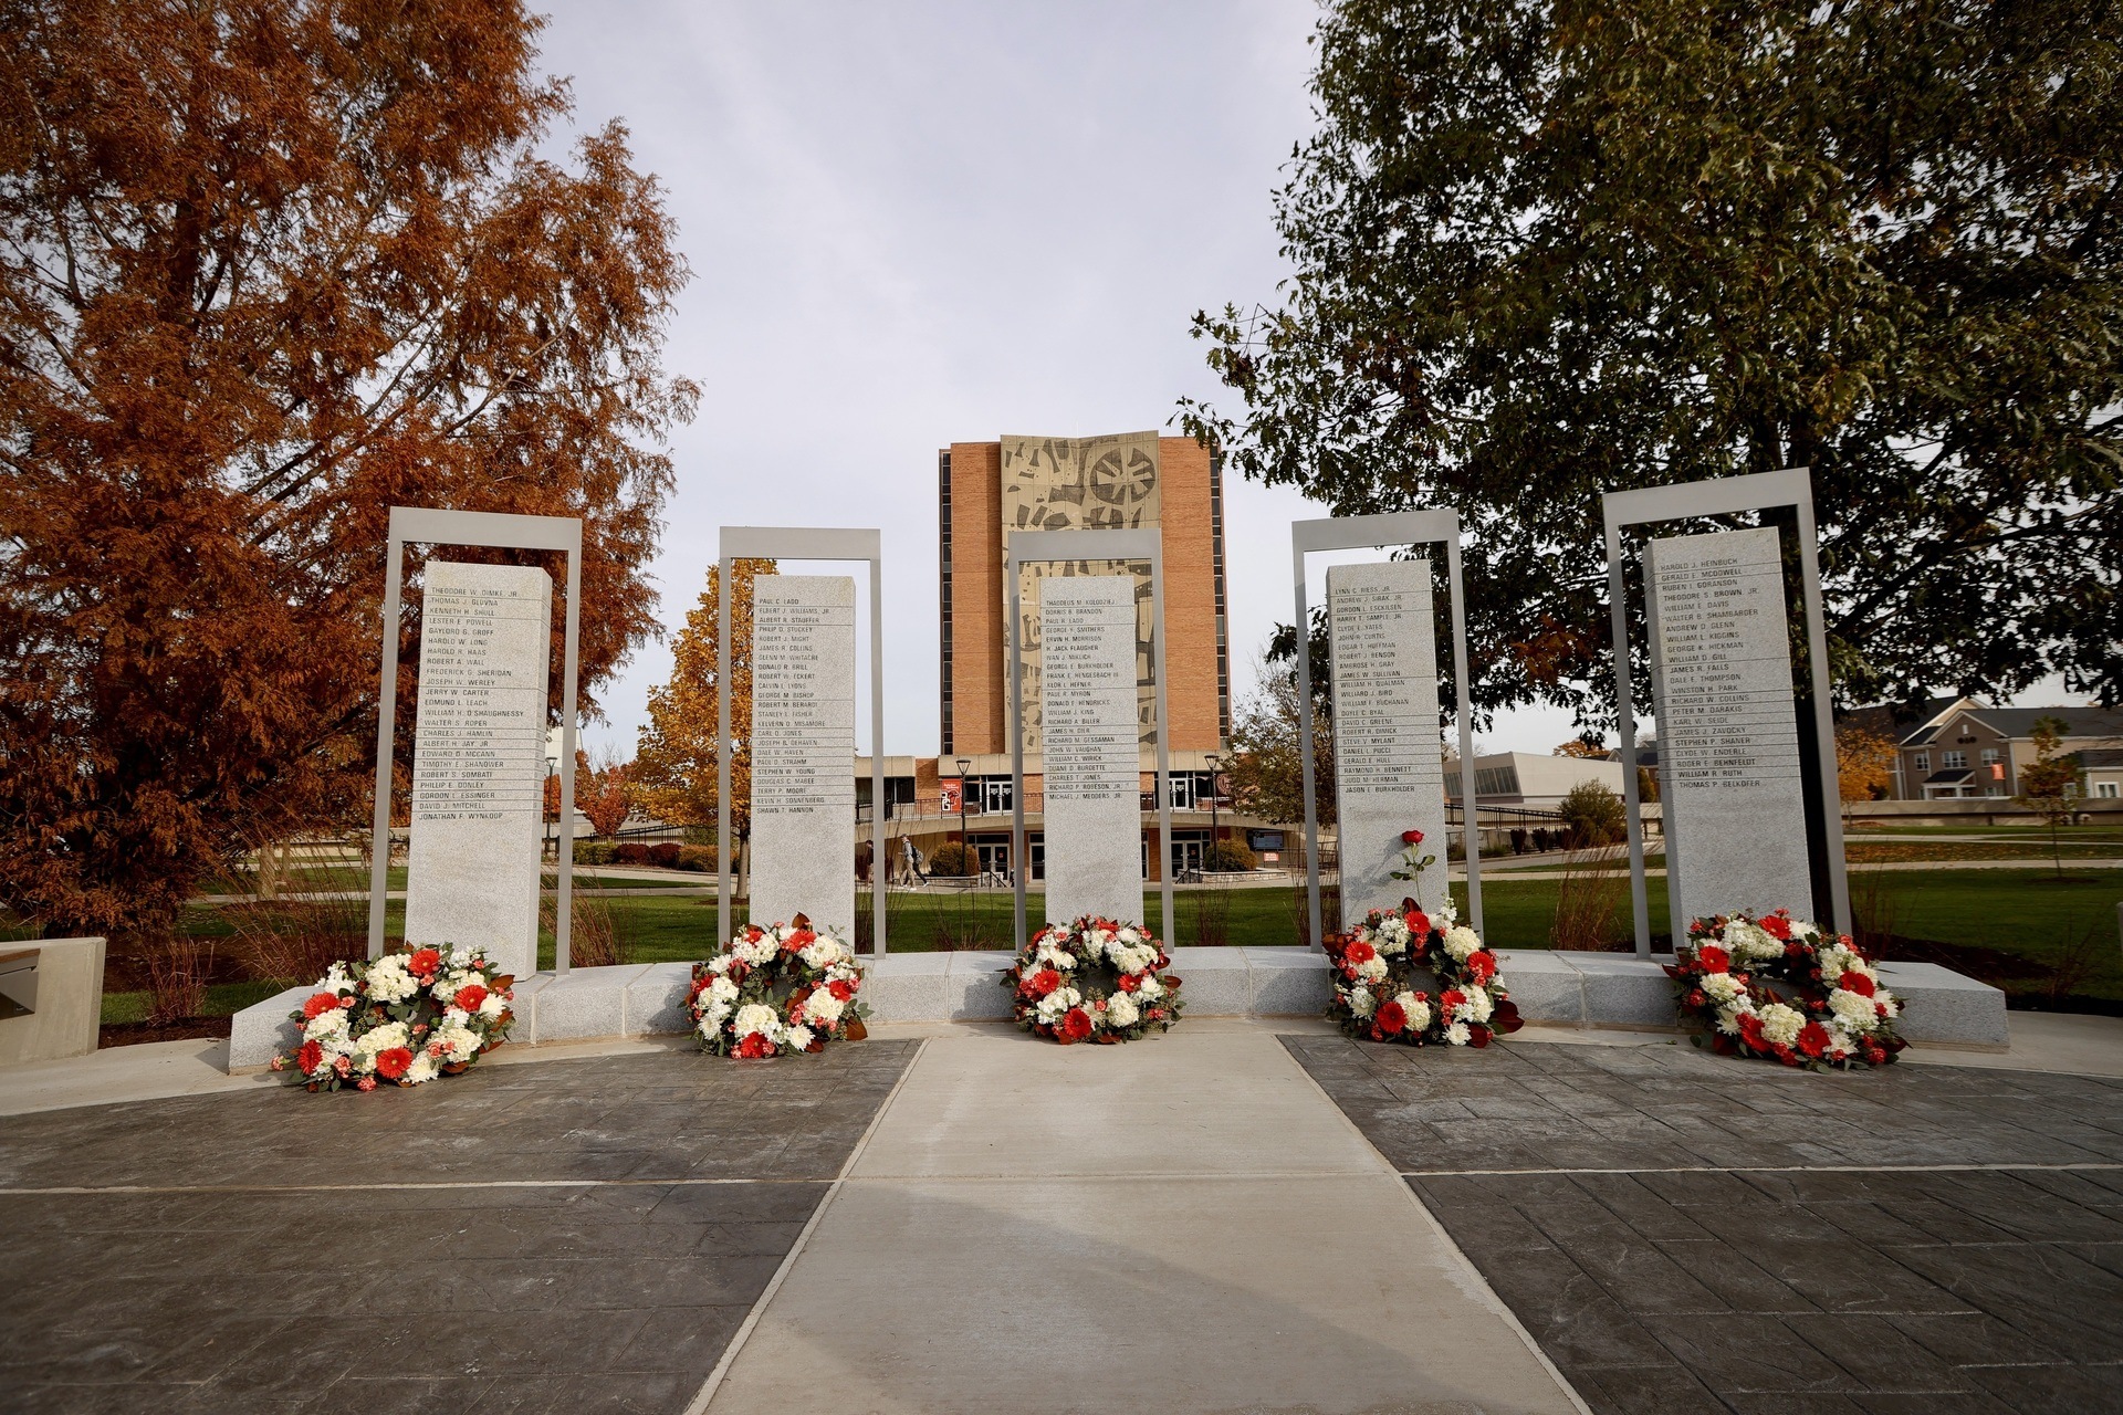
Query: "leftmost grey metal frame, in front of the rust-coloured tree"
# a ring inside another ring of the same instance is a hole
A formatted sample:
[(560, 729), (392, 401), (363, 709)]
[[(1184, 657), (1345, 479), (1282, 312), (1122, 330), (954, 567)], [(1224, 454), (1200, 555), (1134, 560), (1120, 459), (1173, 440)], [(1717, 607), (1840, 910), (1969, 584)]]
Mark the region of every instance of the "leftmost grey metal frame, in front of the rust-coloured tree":
[[(558, 897), (552, 925), (552, 967), (567, 972), (567, 940), (571, 923), (571, 883), (575, 870), (575, 630), (582, 613), (582, 522), (573, 516), (507, 516), (503, 511), (437, 511), (429, 507), (391, 507), (391, 564), (384, 571), (384, 675), (376, 713), (376, 832), (369, 838), (369, 957), (384, 955), (384, 887), (391, 880), (391, 736), (397, 730), (397, 636), (399, 577), (405, 543), (482, 545), (486, 549), (565, 549), (567, 552), (567, 636), (560, 647), (560, 832)], [(422, 613), (425, 617), (425, 613)], [(552, 634), (552, 624), (546, 626)], [(550, 670), (550, 662), (548, 662)], [(539, 723), (543, 728), (543, 723)], [(539, 732), (543, 755), (543, 730)], [(412, 887), (408, 861), (408, 893)], [(531, 963), (537, 965), (537, 940), (531, 940)]]

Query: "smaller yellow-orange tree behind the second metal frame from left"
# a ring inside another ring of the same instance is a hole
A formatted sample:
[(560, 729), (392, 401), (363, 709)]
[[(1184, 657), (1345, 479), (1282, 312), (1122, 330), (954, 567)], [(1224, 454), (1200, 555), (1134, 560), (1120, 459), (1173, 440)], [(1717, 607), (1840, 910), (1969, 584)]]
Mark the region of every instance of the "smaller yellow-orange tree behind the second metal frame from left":
[[(773, 560), (735, 560), (730, 581), (730, 834), (752, 827), (752, 581), (773, 575)], [(650, 689), (650, 719), (635, 749), (635, 796), (673, 825), (718, 823), (715, 617), (722, 566), (707, 566), (707, 590), (671, 645), (671, 681)]]

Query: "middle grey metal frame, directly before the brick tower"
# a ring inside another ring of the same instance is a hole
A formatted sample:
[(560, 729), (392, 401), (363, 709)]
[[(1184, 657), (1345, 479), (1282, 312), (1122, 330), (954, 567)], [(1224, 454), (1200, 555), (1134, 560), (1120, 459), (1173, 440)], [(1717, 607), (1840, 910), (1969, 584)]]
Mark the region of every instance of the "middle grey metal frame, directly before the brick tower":
[[(1011, 605), (1011, 876), (1017, 880), (1017, 950), (1025, 948), (1025, 876), (1032, 857), (1025, 853), (1025, 677), (1019, 643), (1023, 588), (1017, 566), (1034, 560), (1149, 560), (1151, 562), (1151, 679), (1157, 698), (1157, 861), (1159, 908), (1157, 927), (1172, 944), (1172, 751), (1170, 713), (1166, 711), (1166, 549), (1157, 530), (1013, 530), (1004, 537), (1002, 579)], [(1042, 738), (1045, 740), (1045, 738)], [(1140, 753), (1140, 749), (1138, 749)], [(1045, 755), (1045, 747), (1042, 747)], [(1138, 755), (1140, 762), (1140, 755)], [(960, 783), (960, 791), (966, 785)], [(1210, 842), (1214, 844), (1214, 842)]]

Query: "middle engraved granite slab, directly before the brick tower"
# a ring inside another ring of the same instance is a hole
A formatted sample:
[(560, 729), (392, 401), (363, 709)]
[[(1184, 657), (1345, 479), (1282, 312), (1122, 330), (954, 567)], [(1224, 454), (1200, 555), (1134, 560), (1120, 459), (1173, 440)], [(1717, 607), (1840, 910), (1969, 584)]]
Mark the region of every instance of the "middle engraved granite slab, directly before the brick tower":
[(1038, 583), (1047, 641), (1047, 923), (1142, 916), (1136, 586)]

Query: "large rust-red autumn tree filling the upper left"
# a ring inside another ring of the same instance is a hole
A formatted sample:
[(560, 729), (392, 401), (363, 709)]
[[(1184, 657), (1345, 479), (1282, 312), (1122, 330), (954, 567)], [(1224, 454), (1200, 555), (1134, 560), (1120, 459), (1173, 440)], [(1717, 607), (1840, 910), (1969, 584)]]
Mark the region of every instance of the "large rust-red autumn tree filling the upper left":
[[(153, 950), (365, 815), (391, 505), (582, 518), (586, 706), (654, 630), (686, 265), (622, 125), (546, 155), (514, 0), (0, 28), (0, 897)], [(418, 579), (393, 628), (410, 704)]]

